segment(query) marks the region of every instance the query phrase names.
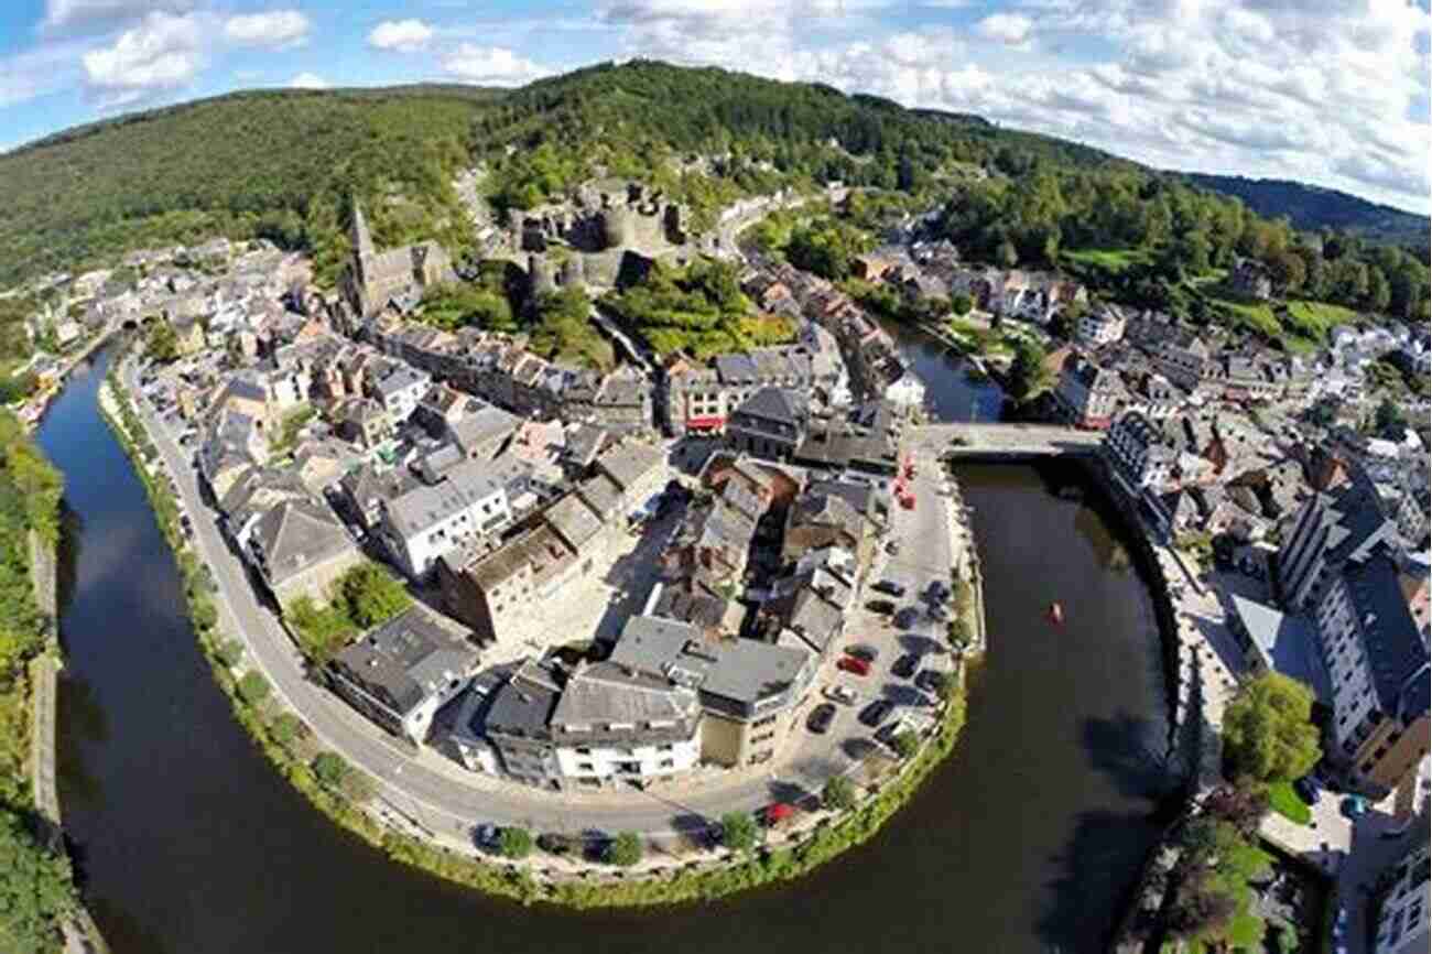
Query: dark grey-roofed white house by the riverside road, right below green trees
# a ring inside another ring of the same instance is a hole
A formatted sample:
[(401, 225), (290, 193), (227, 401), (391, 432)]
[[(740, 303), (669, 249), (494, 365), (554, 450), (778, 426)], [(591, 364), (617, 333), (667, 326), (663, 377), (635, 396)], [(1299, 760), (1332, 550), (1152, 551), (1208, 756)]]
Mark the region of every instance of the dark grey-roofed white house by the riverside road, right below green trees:
[(414, 606), (339, 650), (334, 690), (379, 726), (422, 745), (432, 716), (467, 688), (477, 652)]

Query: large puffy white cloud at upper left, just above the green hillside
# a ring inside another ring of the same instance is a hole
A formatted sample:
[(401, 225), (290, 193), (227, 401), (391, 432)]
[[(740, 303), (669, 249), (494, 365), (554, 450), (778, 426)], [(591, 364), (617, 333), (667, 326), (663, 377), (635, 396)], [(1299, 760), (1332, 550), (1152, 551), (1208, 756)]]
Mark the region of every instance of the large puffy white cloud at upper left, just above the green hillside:
[(113, 46), (93, 49), (82, 62), (89, 87), (103, 107), (179, 89), (203, 67), (199, 19), (150, 13), (142, 24), (125, 30)]

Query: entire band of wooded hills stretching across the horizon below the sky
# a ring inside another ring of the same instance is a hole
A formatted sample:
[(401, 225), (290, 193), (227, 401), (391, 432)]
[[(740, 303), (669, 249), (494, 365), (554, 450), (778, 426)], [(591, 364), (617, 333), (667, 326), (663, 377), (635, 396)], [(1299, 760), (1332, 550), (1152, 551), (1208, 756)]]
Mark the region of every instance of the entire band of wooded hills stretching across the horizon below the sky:
[[(1272, 269), (1282, 295), (1426, 315), (1425, 251), (1373, 241), (1415, 222), (1425, 233), (1418, 216), (1287, 183), (1163, 173), (829, 86), (643, 60), (507, 93), (236, 93), (52, 136), (0, 156), (0, 285), (215, 232), (308, 249), (319, 281), (331, 281), (348, 254), (349, 196), (365, 202), (379, 245), (435, 236), (463, 258), (470, 229), (451, 180), (473, 165), (487, 170), (483, 188), (500, 209), (607, 173), (686, 202), (696, 229), (740, 196), (842, 180), (904, 196), (895, 213), (942, 208), (942, 233), (974, 261), (1083, 265), (1124, 298), (1156, 299), (1156, 284), (1219, 275), (1247, 256)], [(1396, 228), (1376, 226), (1378, 215)], [(869, 231), (876, 218), (859, 225)], [(1333, 231), (1343, 228), (1359, 235)], [(798, 256), (839, 256), (812, 244), (821, 232), (795, 238)]]

